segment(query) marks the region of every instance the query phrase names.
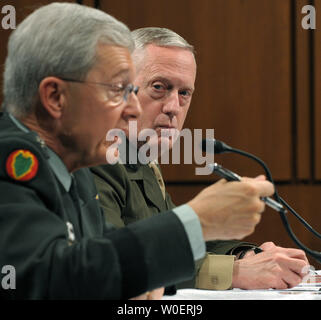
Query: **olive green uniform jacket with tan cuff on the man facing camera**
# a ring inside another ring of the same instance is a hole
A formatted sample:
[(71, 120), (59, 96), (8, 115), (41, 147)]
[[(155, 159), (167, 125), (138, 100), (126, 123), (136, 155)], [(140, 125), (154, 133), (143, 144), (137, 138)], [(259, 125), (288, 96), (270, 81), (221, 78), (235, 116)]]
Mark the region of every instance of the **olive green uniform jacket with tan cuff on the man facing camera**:
[[(120, 228), (175, 207), (163, 198), (153, 170), (142, 164), (102, 165), (91, 168), (106, 220)], [(169, 234), (164, 229), (164, 234)], [(197, 264), (198, 275), (178, 287), (224, 290), (231, 287), (234, 254), (253, 247), (239, 241), (210, 241), (208, 254)]]

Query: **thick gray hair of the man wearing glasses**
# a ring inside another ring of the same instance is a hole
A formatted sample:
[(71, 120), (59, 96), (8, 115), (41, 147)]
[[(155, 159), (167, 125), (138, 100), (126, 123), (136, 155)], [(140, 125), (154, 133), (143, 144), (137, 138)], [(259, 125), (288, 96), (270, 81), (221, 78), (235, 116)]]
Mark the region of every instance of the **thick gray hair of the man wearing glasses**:
[(4, 108), (16, 116), (33, 111), (48, 76), (85, 79), (99, 43), (134, 50), (130, 30), (97, 9), (52, 3), (29, 15), (11, 34), (4, 71)]

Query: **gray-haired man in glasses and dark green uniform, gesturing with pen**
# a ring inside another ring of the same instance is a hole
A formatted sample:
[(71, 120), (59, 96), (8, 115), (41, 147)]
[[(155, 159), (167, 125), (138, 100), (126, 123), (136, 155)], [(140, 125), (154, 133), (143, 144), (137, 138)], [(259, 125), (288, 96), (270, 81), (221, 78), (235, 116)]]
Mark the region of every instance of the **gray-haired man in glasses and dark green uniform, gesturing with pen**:
[[(260, 197), (273, 186), (249, 179), (221, 181), (148, 221), (107, 227), (86, 167), (106, 162), (106, 133), (120, 118), (141, 113), (133, 48), (121, 22), (71, 3), (36, 10), (11, 34), (0, 114), (0, 266), (15, 268), (16, 289), (1, 287), (1, 297), (135, 297), (191, 278), (204, 239), (242, 238), (259, 222)], [(219, 207), (213, 199), (228, 190)], [(245, 209), (235, 212), (237, 203)]]

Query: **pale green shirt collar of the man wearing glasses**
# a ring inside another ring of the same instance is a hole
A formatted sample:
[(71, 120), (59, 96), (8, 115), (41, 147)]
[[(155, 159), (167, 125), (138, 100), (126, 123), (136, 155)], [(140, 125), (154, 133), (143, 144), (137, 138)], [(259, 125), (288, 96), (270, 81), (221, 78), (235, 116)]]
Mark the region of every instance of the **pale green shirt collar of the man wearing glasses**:
[[(12, 114), (9, 113), (9, 117), (12, 120), (12, 122), (22, 130), (23, 132), (29, 133), (31, 130), (29, 130), (25, 125), (23, 125), (17, 118), (15, 118)], [(39, 138), (39, 136), (37, 135)], [(39, 138), (40, 139), (40, 138)], [(46, 146), (44, 143), (40, 143), (43, 148), (46, 148), (47, 154), (48, 154), (48, 162), (49, 165), (54, 172), (57, 179), (60, 181), (60, 183), (63, 185), (65, 190), (69, 192), (71, 182), (72, 182), (72, 176), (67, 170), (65, 164), (60, 159), (60, 157), (48, 146)]]

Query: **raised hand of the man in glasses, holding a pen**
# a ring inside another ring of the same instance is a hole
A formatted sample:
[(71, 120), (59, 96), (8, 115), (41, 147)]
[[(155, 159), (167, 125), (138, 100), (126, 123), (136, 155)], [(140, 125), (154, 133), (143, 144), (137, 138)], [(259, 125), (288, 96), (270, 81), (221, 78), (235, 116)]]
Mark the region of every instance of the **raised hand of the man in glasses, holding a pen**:
[(261, 220), (265, 205), (260, 198), (273, 192), (273, 184), (262, 179), (220, 180), (188, 205), (198, 215), (206, 241), (242, 239), (253, 233)]

